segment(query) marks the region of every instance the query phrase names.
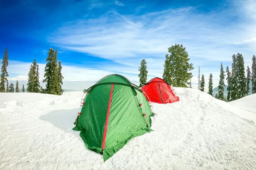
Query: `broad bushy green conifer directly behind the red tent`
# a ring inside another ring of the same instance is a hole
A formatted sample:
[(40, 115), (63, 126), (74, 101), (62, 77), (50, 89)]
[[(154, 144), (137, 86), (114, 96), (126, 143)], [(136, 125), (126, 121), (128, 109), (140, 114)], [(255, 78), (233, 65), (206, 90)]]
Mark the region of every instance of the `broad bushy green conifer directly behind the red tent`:
[(166, 54), (164, 62), (163, 80), (174, 87), (187, 87), (193, 70), (193, 64), (189, 64), (190, 58), (186, 47), (175, 44), (168, 48), (170, 54)]

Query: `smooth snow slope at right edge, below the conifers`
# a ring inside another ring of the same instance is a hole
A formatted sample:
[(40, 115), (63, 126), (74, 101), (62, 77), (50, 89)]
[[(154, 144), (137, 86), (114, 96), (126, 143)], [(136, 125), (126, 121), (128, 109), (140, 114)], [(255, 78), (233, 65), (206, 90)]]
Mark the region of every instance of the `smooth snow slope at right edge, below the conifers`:
[(247, 110), (249, 112), (253, 112), (256, 114), (256, 94), (252, 94), (249, 96), (245, 96), (243, 98), (240, 98), (238, 100), (234, 100), (232, 102), (229, 102), (233, 106), (240, 107), (244, 110)]

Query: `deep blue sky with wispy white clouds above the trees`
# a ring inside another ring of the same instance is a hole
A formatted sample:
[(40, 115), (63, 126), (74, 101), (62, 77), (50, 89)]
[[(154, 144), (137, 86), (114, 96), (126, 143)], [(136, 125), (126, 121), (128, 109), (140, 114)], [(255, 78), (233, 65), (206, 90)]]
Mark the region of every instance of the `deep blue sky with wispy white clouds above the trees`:
[[(9, 77), (26, 78), (36, 59), (43, 79), (49, 48), (58, 49), (64, 80), (98, 80), (112, 73), (139, 80), (162, 77), (168, 47), (183, 44), (197, 69), (218, 85), (220, 63), (242, 53), (251, 67), (256, 47), (256, 3), (216, 1), (0, 1), (0, 49), (9, 52)], [(2, 60), (2, 59), (0, 59)]]

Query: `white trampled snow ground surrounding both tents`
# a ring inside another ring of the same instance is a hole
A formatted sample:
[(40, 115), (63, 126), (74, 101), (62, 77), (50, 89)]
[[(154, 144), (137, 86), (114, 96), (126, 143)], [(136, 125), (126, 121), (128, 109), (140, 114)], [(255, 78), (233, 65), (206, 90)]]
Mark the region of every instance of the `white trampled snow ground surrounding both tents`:
[(197, 89), (175, 91), (180, 102), (153, 104), (154, 131), (105, 163), (72, 130), (82, 92), (0, 93), (0, 169), (256, 169), (256, 114)]

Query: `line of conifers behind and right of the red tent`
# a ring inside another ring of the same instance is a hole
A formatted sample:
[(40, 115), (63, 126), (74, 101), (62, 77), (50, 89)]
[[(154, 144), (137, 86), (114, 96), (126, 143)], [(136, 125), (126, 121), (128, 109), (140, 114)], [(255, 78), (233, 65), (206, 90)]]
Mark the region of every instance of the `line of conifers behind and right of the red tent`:
[[(175, 44), (168, 48), (168, 53), (165, 56), (164, 62), (164, 71), (163, 71), (163, 80), (166, 83), (174, 87), (191, 87), (191, 78), (193, 77), (191, 70), (194, 69), (193, 64), (189, 63), (190, 58), (188, 57), (188, 53), (186, 51), (186, 47), (183, 47), (181, 44)], [(236, 55), (232, 55), (232, 66), (231, 71), (229, 67), (226, 67), (224, 71), (223, 64), (220, 64), (220, 80), (218, 84), (218, 91), (215, 98), (224, 101), (233, 101), (239, 98), (242, 98), (246, 95), (249, 95), (250, 92), (250, 83), (252, 86), (251, 92), (252, 94), (256, 93), (256, 59), (255, 55), (252, 57), (252, 66), (251, 71), (249, 66), (247, 66), (247, 76), (245, 76), (245, 67), (243, 55), (237, 53)], [(227, 74), (226, 80), (228, 83), (228, 94), (224, 95), (224, 79), (225, 73)], [(139, 87), (143, 87), (147, 81), (147, 66), (146, 60), (143, 59), (139, 66)], [(201, 79), (200, 79), (201, 78)], [(208, 94), (213, 96), (213, 83), (212, 83), (212, 73), (209, 75), (209, 83), (208, 83)], [(202, 74), (200, 76), (200, 66), (198, 68), (198, 89), (201, 91), (205, 91), (205, 77)]]

